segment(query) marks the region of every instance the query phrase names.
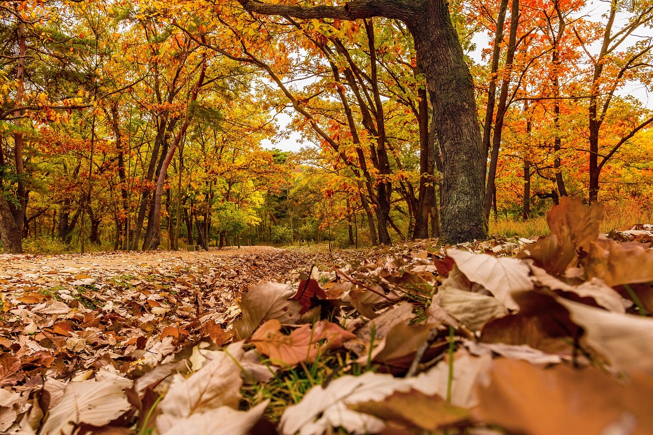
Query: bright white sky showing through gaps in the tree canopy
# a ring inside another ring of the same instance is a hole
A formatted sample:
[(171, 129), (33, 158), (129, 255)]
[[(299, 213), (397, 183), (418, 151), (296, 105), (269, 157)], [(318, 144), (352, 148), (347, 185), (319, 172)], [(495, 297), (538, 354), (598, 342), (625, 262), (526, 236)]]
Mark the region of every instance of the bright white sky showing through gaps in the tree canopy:
[[(586, 4), (584, 7), (584, 14), (590, 16), (592, 20), (594, 21), (601, 21), (601, 14), (604, 14), (607, 12), (607, 8), (609, 7), (609, 3), (603, 0), (596, 0), (596, 1), (590, 1)], [(615, 22), (615, 25), (618, 26), (620, 24), (623, 24), (625, 20), (628, 18), (627, 14), (619, 14), (617, 16), (617, 20)], [(646, 31), (646, 29), (644, 30)], [(488, 34), (485, 32), (479, 32), (476, 33), (473, 38), (472, 42), (475, 43), (476, 50), (469, 52), (468, 56), (473, 59), (476, 63), (484, 63), (485, 61), (481, 57), (481, 51), (483, 48), (487, 47), (489, 45), (488, 43)], [(626, 41), (624, 44), (627, 44), (628, 41)], [(628, 46), (628, 45), (624, 45)], [(598, 48), (596, 48), (598, 49)], [(592, 47), (590, 47), (590, 50), (592, 50)], [(620, 89), (617, 92), (617, 95), (632, 95), (633, 97), (637, 98), (644, 106), (653, 109), (653, 93), (649, 91), (646, 86), (644, 86), (641, 83), (629, 83), (624, 86), (624, 88)], [(283, 131), (284, 129), (287, 128), (291, 121), (291, 114), (293, 114), (295, 110), (293, 108), (287, 108), (283, 112), (279, 113), (276, 116), (277, 119), (277, 125), (279, 126), (279, 131)], [(271, 114), (274, 115), (274, 110), (270, 112)], [(311, 144), (311, 142), (306, 142), (302, 140), (302, 136), (300, 133), (296, 131), (292, 131), (289, 134), (288, 138), (282, 138), (277, 140), (275, 144), (272, 143), (271, 140), (263, 140), (263, 148), (279, 148), (279, 150), (282, 151), (299, 151), (300, 148), (303, 147), (308, 147), (308, 146), (315, 146), (315, 144)]]

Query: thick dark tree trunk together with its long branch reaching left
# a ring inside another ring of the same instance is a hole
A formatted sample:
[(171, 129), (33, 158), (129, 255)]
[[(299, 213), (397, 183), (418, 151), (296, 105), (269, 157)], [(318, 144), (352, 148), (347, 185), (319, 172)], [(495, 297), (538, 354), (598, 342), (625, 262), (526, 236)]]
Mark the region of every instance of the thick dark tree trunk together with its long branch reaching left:
[(485, 156), (473, 80), (447, 2), (354, 0), (344, 6), (302, 7), (239, 0), (249, 11), (300, 19), (358, 20), (384, 16), (404, 22), (413, 36), (417, 63), (426, 75), (443, 154), (442, 236), (451, 243), (485, 238)]

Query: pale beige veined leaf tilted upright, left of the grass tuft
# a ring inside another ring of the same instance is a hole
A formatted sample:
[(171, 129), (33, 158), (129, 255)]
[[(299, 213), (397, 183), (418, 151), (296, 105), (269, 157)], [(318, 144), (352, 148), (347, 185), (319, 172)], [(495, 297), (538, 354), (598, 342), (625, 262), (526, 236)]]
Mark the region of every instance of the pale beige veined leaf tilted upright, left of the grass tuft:
[(240, 368), (225, 352), (208, 353), (207, 361), (188, 378), (177, 374), (167, 395), (157, 410), (157, 428), (163, 433), (170, 430), (180, 419), (194, 413), (218, 408), (237, 406), (240, 400)]

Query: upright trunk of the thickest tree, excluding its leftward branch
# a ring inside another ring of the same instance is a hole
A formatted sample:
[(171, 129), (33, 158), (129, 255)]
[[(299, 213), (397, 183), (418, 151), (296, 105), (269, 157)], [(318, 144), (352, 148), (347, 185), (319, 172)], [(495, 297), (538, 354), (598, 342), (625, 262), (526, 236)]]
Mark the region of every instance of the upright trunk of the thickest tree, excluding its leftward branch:
[(442, 236), (449, 243), (483, 239), (485, 155), (474, 84), (447, 3), (431, 0), (407, 22), (426, 71), (426, 84), (443, 154)]

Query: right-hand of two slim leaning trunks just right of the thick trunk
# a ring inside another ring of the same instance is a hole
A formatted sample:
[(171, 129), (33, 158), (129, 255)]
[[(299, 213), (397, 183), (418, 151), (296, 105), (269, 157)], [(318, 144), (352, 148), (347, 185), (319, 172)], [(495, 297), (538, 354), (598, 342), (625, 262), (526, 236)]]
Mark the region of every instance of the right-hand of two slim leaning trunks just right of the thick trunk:
[[(488, 181), (485, 188), (485, 219), (490, 217), (492, 198), (496, 195), (496, 167), (499, 161), (499, 150), (501, 148), (501, 136), (503, 131), (503, 119), (508, 109), (508, 88), (510, 76), (513, 71), (513, 59), (515, 58), (515, 44), (517, 44), (517, 25), (519, 24), (519, 0), (513, 0), (510, 8), (510, 33), (508, 36), (508, 48), (505, 55), (505, 71), (499, 95), (499, 105), (496, 108), (496, 120), (494, 121), (494, 135), (492, 136), (492, 152), (490, 154), (490, 169), (488, 170)], [(495, 216), (496, 218), (496, 216)]]

